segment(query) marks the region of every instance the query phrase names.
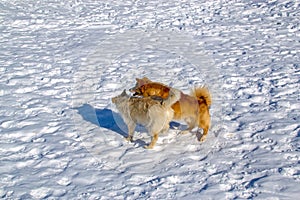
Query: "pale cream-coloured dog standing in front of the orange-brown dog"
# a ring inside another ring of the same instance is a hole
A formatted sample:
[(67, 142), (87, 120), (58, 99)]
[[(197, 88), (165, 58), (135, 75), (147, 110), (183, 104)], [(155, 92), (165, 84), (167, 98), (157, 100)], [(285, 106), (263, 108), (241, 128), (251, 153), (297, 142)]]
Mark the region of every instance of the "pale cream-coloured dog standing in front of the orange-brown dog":
[(179, 99), (180, 91), (176, 89), (171, 89), (168, 97), (161, 101), (151, 97), (130, 97), (124, 90), (122, 94), (112, 98), (112, 103), (116, 105), (128, 127), (126, 139), (132, 141), (136, 125), (143, 125), (152, 134), (151, 143), (145, 148), (152, 149), (157, 142), (158, 135), (169, 129), (169, 123), (174, 115), (171, 105)]

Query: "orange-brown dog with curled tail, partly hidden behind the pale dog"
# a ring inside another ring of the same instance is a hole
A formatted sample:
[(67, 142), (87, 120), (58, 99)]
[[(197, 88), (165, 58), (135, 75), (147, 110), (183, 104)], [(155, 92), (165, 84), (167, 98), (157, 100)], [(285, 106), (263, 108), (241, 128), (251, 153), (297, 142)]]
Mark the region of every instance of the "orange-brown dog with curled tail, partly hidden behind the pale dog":
[[(152, 82), (147, 77), (142, 79), (136, 78), (136, 85), (129, 91), (134, 93), (134, 96), (159, 96), (166, 98), (171, 90), (171, 87), (159, 82)], [(212, 100), (207, 87), (197, 87), (191, 92), (191, 95), (181, 92), (180, 99), (171, 107), (174, 110), (174, 120), (183, 120), (187, 123), (188, 128), (181, 133), (192, 131), (195, 127), (203, 129), (203, 134), (198, 135), (198, 140), (203, 142), (210, 128), (209, 108)]]

